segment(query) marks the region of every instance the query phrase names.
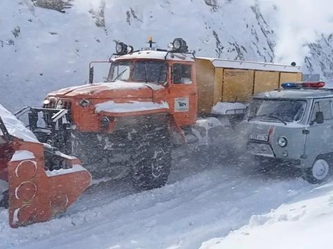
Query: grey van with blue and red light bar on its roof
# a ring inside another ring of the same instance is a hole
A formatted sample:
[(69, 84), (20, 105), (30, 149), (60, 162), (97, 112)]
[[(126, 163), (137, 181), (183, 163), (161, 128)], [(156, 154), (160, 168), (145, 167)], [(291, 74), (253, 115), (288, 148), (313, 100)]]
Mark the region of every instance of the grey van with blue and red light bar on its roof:
[(302, 169), (310, 183), (325, 181), (333, 167), (333, 90), (324, 82), (289, 82), (259, 93), (243, 124), (247, 151), (259, 163)]

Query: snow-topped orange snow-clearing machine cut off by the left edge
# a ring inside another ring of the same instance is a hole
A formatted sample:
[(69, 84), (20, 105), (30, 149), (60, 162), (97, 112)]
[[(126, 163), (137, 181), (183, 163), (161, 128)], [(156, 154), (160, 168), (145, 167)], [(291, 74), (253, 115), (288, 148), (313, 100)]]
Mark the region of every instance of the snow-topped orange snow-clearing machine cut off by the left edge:
[(0, 207), (12, 228), (64, 212), (91, 180), (80, 160), (38, 142), (0, 104)]

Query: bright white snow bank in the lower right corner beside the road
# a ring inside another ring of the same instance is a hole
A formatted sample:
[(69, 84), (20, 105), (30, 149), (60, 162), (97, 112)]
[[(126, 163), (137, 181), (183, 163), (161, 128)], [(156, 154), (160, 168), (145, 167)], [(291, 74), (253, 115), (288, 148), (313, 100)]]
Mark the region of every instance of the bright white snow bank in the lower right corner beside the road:
[(332, 248), (333, 184), (317, 187), (200, 249)]

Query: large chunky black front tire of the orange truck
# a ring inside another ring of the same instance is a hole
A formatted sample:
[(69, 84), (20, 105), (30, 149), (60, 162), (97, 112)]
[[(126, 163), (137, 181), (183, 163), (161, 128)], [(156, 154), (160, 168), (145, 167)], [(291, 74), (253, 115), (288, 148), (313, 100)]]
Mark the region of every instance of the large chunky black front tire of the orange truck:
[(137, 190), (152, 190), (164, 186), (171, 172), (171, 136), (164, 122), (153, 132), (144, 132), (135, 149), (132, 182)]

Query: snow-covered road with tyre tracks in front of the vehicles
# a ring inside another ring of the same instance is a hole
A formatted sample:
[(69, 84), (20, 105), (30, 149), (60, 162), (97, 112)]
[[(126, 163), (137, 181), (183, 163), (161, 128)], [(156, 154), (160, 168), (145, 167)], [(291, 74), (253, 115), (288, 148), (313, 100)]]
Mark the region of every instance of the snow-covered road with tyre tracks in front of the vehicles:
[(138, 193), (124, 181), (101, 183), (64, 216), (26, 228), (9, 228), (0, 210), (0, 248), (199, 248), (314, 188), (247, 168), (178, 160), (165, 187)]

